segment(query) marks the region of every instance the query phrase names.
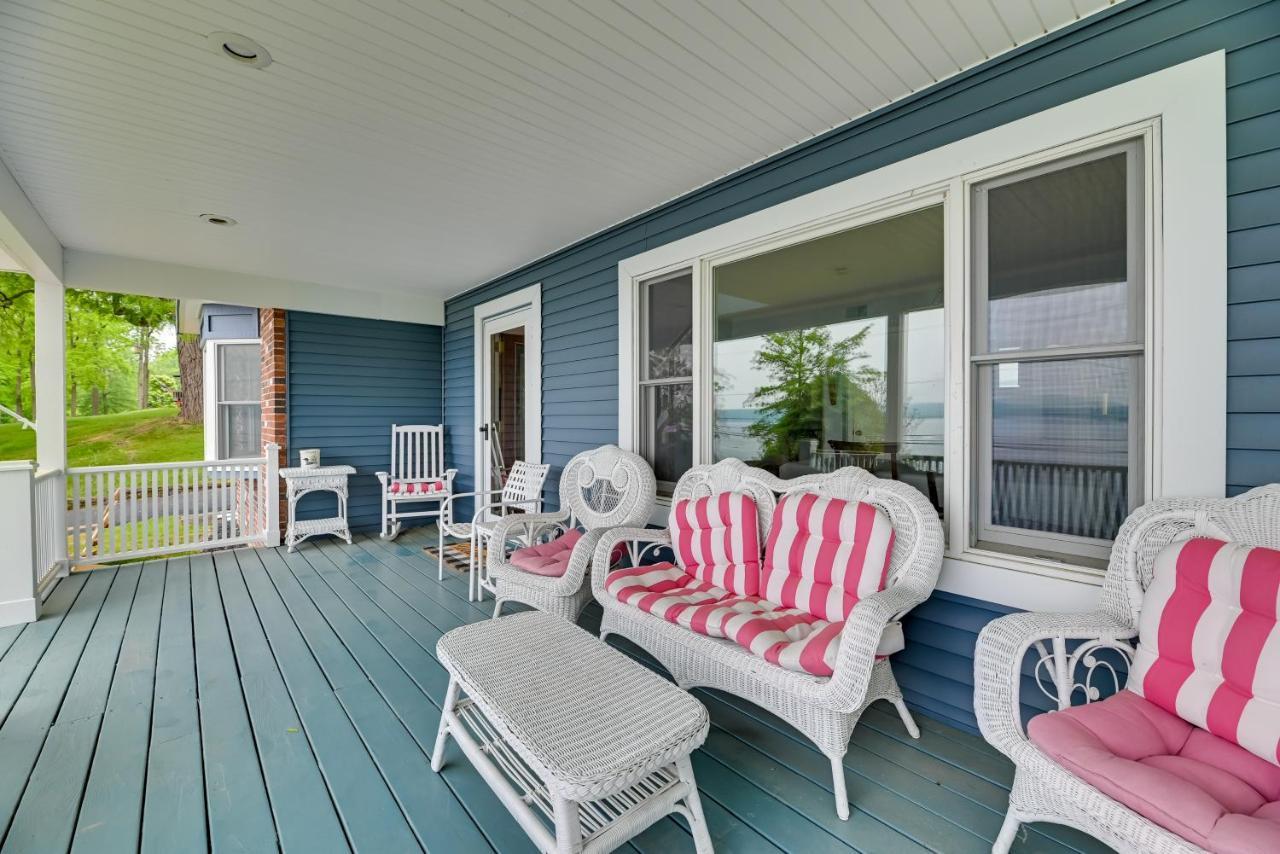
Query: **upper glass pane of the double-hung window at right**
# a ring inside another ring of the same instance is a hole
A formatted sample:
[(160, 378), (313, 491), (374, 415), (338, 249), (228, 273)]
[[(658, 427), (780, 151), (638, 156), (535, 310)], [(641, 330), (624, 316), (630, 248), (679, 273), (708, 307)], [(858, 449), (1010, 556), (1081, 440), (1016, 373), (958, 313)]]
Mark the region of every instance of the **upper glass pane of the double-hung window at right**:
[(1126, 156), (982, 191), (988, 352), (1140, 341)]

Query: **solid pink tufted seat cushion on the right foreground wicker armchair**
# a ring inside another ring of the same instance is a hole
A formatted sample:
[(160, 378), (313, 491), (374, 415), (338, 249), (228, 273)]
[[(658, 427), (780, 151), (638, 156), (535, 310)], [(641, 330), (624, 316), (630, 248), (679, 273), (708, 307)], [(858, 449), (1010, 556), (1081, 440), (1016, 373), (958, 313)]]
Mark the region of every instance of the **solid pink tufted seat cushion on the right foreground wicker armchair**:
[(1032, 718), (1068, 771), (1211, 851), (1280, 851), (1280, 768), (1125, 690)]

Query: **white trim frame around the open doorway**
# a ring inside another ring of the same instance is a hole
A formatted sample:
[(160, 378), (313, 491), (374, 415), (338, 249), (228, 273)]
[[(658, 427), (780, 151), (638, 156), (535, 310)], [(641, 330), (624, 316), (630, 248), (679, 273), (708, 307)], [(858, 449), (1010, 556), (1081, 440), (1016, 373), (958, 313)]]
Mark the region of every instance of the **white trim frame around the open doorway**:
[[(485, 384), (481, 371), (485, 364), (485, 324), (517, 312), (525, 314), (525, 458), (527, 462), (540, 463), (543, 461), (543, 286), (540, 282), (472, 309), (471, 429), (479, 430), (484, 419), (481, 396)], [(488, 489), (488, 484), (480, 485), (486, 469), (484, 444), (475, 439), (476, 435), (479, 433), (472, 434), (471, 476), (475, 479), (472, 489)]]

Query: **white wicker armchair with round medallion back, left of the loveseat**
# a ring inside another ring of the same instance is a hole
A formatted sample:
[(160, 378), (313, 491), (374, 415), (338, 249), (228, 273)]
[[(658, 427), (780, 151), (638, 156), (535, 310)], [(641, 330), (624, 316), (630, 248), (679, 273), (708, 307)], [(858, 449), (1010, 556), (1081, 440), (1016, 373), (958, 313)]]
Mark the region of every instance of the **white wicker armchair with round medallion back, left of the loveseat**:
[[(591, 600), (586, 574), (595, 544), (608, 529), (648, 522), (655, 490), (649, 463), (617, 446), (585, 451), (570, 460), (561, 472), (558, 512), (507, 516), (493, 530), (488, 575), (498, 599), (494, 616), (502, 612), (504, 602), (524, 602), (539, 611), (577, 620)], [(550, 539), (571, 528), (586, 533), (573, 547), (564, 575), (534, 575), (508, 562), (511, 545)]]

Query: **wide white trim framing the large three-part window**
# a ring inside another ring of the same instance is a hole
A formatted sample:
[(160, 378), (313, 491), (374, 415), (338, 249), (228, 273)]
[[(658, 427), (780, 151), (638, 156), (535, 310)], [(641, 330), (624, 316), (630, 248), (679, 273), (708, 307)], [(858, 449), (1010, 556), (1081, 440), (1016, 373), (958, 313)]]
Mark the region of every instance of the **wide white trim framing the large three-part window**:
[[(694, 271), (699, 311), (710, 262), (792, 243), (823, 230), (882, 219), (927, 197), (946, 206), (946, 503), (950, 548), (938, 589), (1020, 608), (1087, 609), (1101, 574), (1051, 561), (968, 547), (972, 448), (972, 333), (968, 306), (970, 186), (993, 174), (1147, 137), (1148, 497), (1221, 495), (1226, 484), (1226, 64), (1207, 54), (1051, 108), (805, 196), (749, 214), (618, 264), (618, 442), (634, 448), (639, 282), (681, 268)], [(1164, 181), (1164, 175), (1176, 179)], [(963, 213), (964, 215), (956, 215)], [(709, 456), (701, 424), (710, 371), (707, 312), (695, 314), (699, 365), (694, 394), (694, 462)], [(1166, 347), (1166, 342), (1170, 346)], [(1187, 342), (1194, 342), (1190, 346)], [(662, 511), (659, 511), (662, 512)]]

